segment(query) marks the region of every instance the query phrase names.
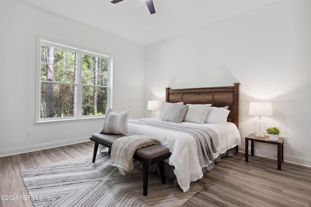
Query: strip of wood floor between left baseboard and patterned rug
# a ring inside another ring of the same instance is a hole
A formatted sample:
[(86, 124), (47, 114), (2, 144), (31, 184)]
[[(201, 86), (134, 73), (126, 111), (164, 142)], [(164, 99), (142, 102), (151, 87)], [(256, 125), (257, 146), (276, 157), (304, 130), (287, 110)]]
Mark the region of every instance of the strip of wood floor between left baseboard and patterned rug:
[(94, 142), (90, 141), (0, 158), (0, 194), (18, 196), (17, 200), (1, 199), (0, 207), (33, 207), (30, 199), (19, 199), (19, 195), (28, 195), (20, 171), (79, 158), (92, 153), (93, 149)]

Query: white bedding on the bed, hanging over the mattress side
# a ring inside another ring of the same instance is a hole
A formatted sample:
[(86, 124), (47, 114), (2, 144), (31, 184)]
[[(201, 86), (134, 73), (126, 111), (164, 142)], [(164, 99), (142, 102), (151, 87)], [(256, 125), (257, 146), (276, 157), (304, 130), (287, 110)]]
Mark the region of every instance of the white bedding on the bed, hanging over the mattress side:
[[(147, 120), (157, 118), (147, 118)], [(165, 121), (163, 121), (165, 122)], [(215, 158), (226, 150), (241, 144), (241, 136), (235, 124), (227, 122), (226, 124), (196, 124), (191, 122), (182, 122), (181, 124), (209, 127), (213, 129), (219, 139)], [(190, 182), (203, 177), (202, 168), (199, 163), (198, 148), (195, 139), (188, 133), (177, 132), (162, 128), (137, 125), (128, 123), (127, 135), (150, 135), (161, 141), (161, 144), (168, 147), (172, 152), (168, 162), (174, 166), (174, 174), (180, 188), (185, 192), (190, 188)], [(206, 163), (206, 166), (210, 163)]]

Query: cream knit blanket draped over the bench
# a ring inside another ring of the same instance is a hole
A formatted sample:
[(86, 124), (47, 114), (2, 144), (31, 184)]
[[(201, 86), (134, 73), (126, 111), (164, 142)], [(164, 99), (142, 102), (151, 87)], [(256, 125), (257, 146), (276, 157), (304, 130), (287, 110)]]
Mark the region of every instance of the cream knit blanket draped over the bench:
[(160, 144), (160, 141), (146, 135), (120, 137), (112, 143), (110, 165), (118, 167), (120, 174), (125, 175), (125, 171), (128, 172), (134, 168), (135, 151), (152, 144)]

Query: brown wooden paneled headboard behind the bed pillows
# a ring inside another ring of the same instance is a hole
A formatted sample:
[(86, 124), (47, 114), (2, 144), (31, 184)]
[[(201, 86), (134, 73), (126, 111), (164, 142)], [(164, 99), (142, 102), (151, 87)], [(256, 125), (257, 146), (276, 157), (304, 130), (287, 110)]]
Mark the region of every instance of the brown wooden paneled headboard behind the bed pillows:
[(166, 88), (166, 102), (184, 104), (208, 104), (212, 106), (229, 106), (228, 122), (233, 122), (239, 128), (239, 88), (240, 83), (234, 86), (211, 87), (211, 88)]

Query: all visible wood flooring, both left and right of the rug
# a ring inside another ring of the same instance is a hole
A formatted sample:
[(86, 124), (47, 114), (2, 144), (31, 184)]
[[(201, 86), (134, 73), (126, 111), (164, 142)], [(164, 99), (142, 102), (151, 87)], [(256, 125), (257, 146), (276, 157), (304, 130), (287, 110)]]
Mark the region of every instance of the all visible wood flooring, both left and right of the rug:
[[(81, 157), (93, 152), (86, 142), (0, 158), (0, 194), (28, 195), (20, 171)], [(310, 207), (311, 168), (244, 154), (224, 158), (197, 181), (203, 189), (183, 207), (262, 206)], [(0, 200), (0, 207), (32, 207), (31, 200)]]

